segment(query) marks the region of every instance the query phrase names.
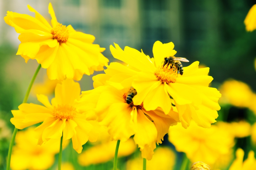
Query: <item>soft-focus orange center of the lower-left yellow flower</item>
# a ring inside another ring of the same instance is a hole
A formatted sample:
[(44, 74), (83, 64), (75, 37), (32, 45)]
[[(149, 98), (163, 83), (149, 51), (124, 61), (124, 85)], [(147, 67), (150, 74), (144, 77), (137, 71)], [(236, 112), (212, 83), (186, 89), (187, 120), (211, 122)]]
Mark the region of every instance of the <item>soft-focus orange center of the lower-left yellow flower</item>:
[(54, 107), (53, 116), (56, 119), (73, 119), (77, 114), (75, 107), (70, 105), (58, 105)]

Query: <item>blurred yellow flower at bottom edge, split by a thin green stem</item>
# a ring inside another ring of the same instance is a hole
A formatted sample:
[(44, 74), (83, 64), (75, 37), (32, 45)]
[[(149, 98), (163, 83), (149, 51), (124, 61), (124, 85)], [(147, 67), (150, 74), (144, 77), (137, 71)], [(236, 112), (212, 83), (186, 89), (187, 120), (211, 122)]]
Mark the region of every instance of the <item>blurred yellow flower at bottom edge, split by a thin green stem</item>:
[[(150, 161), (147, 161), (147, 170), (172, 170), (174, 169), (176, 155), (169, 147), (158, 147)], [(126, 163), (127, 170), (141, 170), (143, 168), (141, 157), (130, 159)]]

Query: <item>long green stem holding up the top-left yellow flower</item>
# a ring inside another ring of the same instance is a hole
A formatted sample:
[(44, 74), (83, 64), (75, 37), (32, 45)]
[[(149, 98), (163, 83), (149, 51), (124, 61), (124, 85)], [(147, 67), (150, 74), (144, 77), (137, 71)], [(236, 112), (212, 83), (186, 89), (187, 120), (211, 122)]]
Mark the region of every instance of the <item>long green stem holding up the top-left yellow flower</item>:
[[(37, 67), (36, 72), (34, 73), (32, 79), (30, 81), (29, 87), (27, 88), (27, 92), (26, 92), (26, 95), (25, 95), (22, 103), (26, 103), (27, 102), (27, 98), (29, 97), (30, 90), (32, 88), (32, 85), (33, 85), (33, 83), (34, 83), (34, 81), (36, 79), (36, 76), (37, 76), (40, 68), (41, 68), (41, 64), (39, 64), (39, 66)], [(10, 170), (12, 147), (13, 147), (13, 144), (14, 144), (14, 140), (15, 140), (17, 131), (18, 131), (18, 129), (15, 127), (14, 130), (13, 130), (12, 139), (11, 139), (11, 142), (10, 142), (10, 145), (9, 145), (6, 170)]]

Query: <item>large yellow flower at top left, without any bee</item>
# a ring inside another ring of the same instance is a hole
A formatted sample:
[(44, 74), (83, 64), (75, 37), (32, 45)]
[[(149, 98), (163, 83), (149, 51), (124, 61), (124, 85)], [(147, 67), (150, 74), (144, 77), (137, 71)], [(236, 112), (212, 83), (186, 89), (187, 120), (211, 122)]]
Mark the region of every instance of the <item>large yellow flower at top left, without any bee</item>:
[(95, 40), (93, 35), (58, 23), (51, 3), (51, 25), (35, 9), (27, 7), (35, 13), (35, 18), (10, 11), (4, 17), (5, 22), (20, 33), (21, 43), (16, 55), (21, 55), (26, 62), (36, 59), (43, 68), (47, 68), (51, 80), (80, 80), (83, 74), (103, 70), (108, 63), (108, 59), (101, 54), (105, 48), (92, 44)]

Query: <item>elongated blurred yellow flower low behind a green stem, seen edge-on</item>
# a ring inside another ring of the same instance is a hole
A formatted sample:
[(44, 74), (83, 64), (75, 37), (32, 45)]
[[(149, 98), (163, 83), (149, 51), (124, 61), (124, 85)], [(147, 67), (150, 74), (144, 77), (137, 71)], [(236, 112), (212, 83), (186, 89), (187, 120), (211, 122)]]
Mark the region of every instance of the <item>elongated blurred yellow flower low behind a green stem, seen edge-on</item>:
[[(87, 149), (79, 154), (78, 162), (80, 165), (88, 166), (91, 164), (100, 164), (110, 161), (115, 156), (116, 141), (109, 141)], [(136, 149), (136, 145), (132, 139), (120, 142), (118, 149), (118, 157), (128, 156)]]

